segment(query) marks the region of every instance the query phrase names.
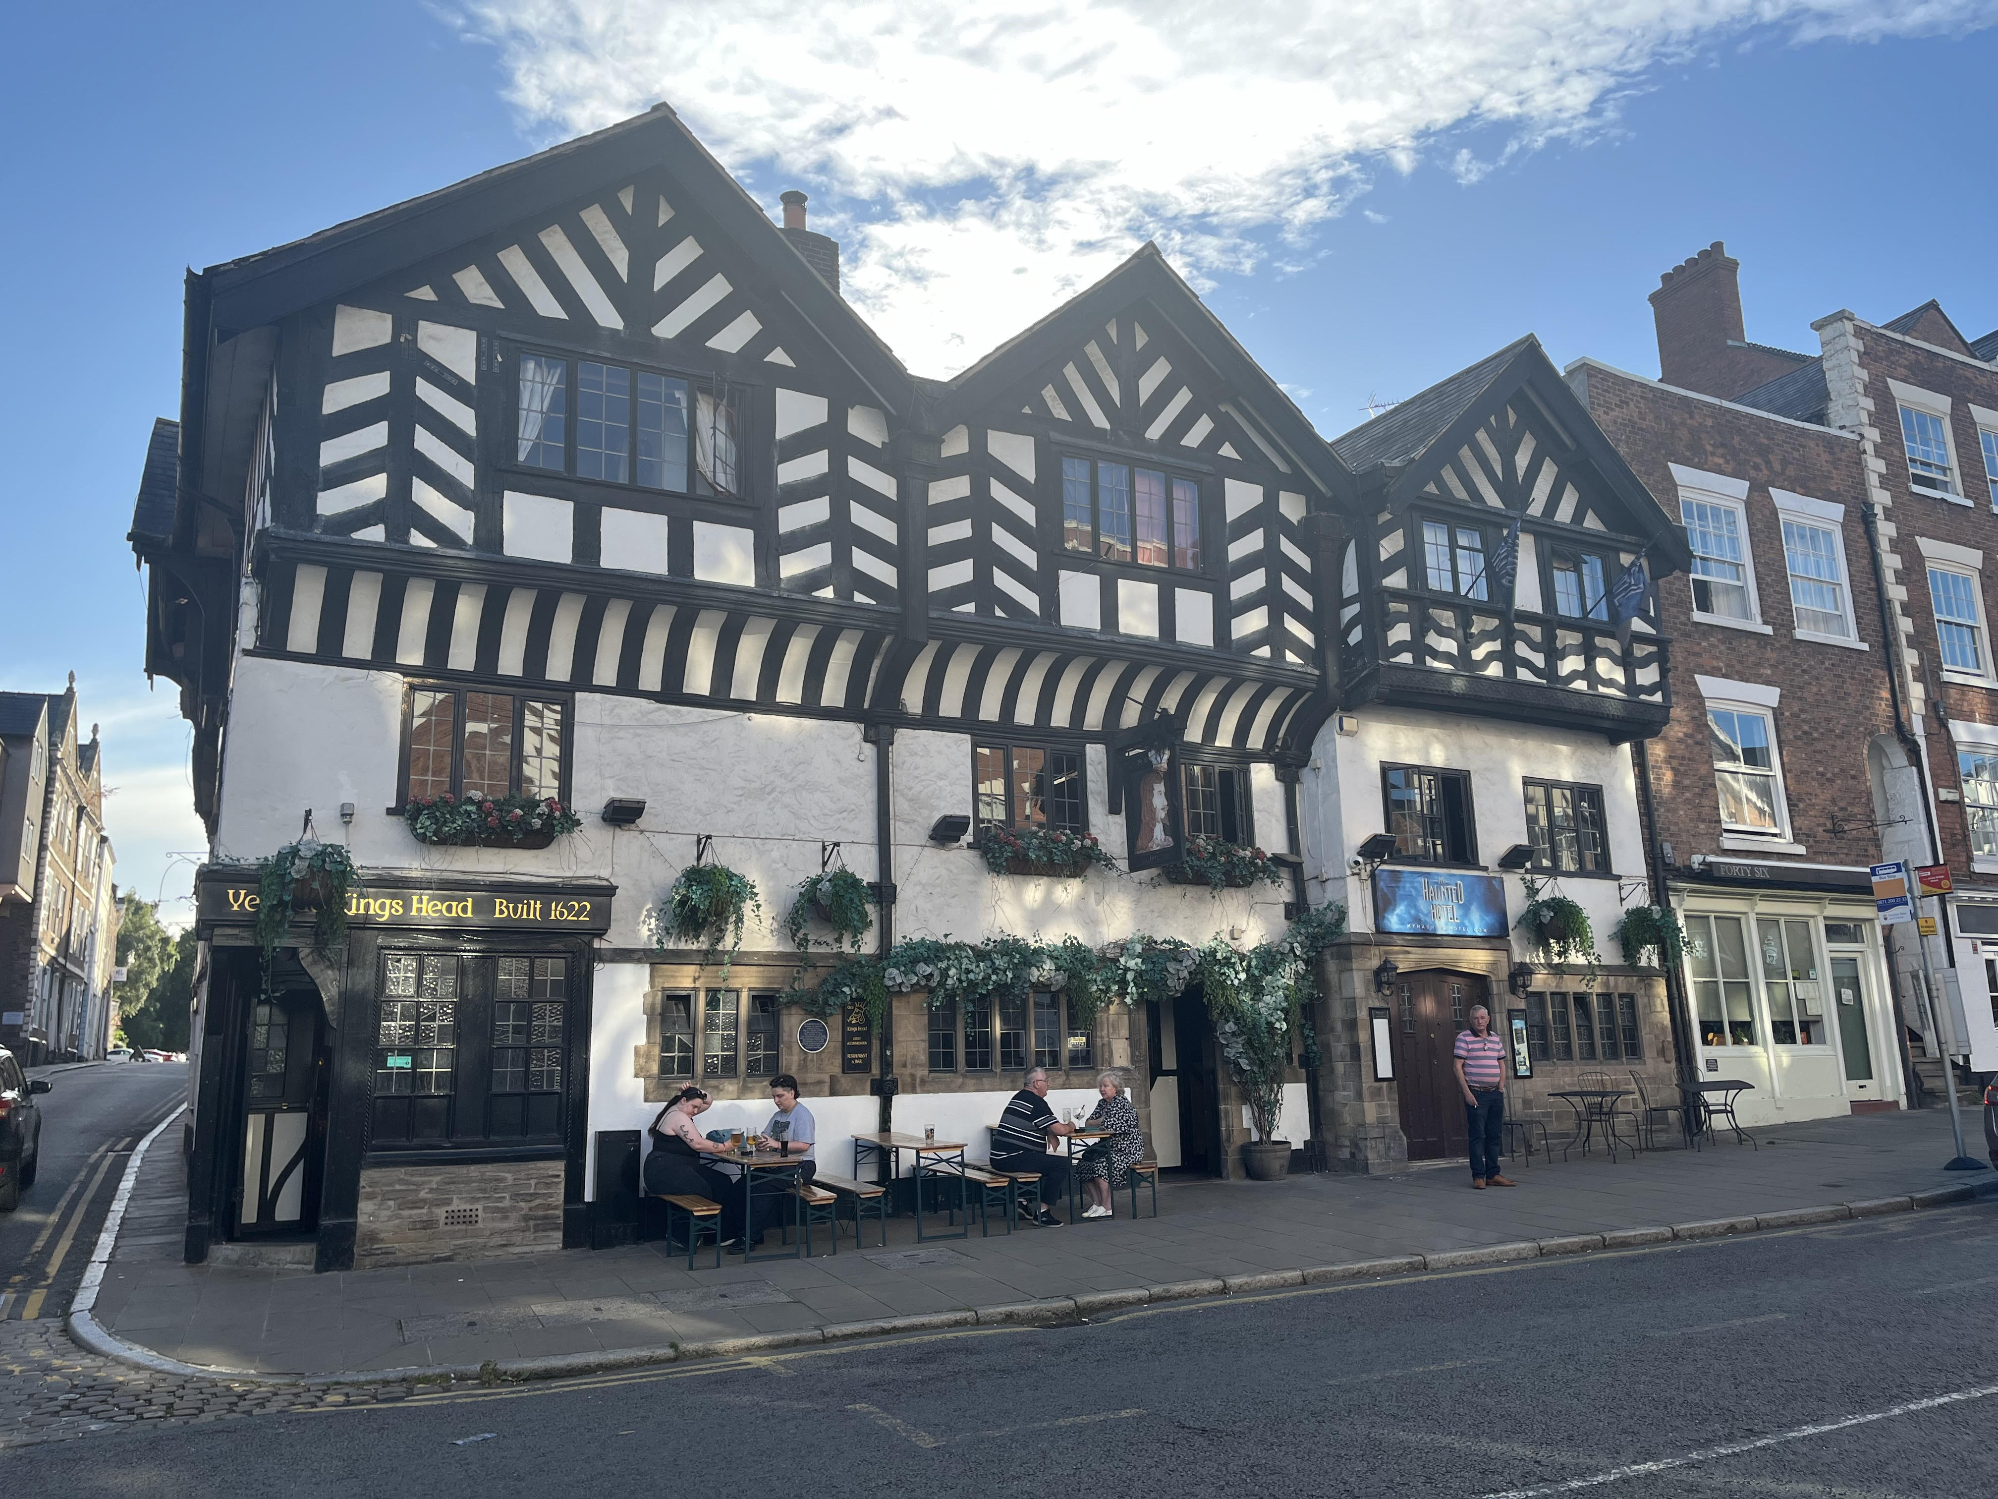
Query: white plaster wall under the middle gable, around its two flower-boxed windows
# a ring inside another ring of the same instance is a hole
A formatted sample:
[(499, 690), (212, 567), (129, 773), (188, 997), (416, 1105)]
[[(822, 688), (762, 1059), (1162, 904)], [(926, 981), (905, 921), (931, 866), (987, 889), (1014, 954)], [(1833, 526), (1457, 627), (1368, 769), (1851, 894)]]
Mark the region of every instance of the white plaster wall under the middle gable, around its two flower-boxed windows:
[[(971, 736), (905, 730), (895, 736), (893, 753), (897, 937), (977, 941), (1013, 933), (1103, 943), (1145, 931), (1201, 943), (1213, 935), (1263, 941), (1285, 927), (1287, 885), (1215, 893), (1205, 885), (1169, 885), (1149, 869), (1135, 875), (1091, 869), (1083, 879), (993, 875), (969, 845), (937, 847), (929, 841), (929, 827), (943, 813), (971, 815)], [(1109, 811), (1101, 746), (1089, 746), (1087, 783), (1089, 829), (1121, 869), (1125, 823)], [(1263, 799), (1259, 793), (1259, 827)], [(1281, 825), (1281, 801), (1277, 815)]]

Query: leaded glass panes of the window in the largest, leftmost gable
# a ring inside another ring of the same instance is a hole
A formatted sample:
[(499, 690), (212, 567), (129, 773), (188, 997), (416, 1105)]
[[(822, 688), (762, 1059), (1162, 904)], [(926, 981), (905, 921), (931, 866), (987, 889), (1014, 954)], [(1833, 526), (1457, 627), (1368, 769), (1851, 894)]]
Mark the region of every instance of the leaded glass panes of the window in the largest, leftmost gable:
[(527, 468), (675, 494), (741, 492), (733, 402), (653, 370), (521, 354), (513, 436), (513, 460)]

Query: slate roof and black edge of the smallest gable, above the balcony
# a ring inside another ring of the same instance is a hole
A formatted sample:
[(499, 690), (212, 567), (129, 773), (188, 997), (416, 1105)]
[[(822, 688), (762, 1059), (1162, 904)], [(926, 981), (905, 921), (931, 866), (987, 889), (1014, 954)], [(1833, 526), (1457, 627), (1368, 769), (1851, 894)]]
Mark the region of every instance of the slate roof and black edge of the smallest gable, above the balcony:
[(1602, 428), (1532, 334), (1335, 438), (1333, 450), (1363, 484), (1369, 474), (1385, 480), (1381, 498), (1367, 500), (1369, 510), (1399, 510), (1413, 504), (1423, 484), (1451, 462), (1459, 448), (1473, 442), (1473, 434), (1493, 412), (1514, 402), (1520, 390), (1552, 420), (1554, 432), (1572, 442), (1558, 460), (1562, 468), (1570, 474), (1574, 468), (1592, 470), (1606, 496), (1630, 516), (1632, 534), (1644, 538), (1656, 560), (1652, 572), (1686, 568), (1690, 554), (1684, 528), (1666, 516), (1622, 454), (1602, 436)]

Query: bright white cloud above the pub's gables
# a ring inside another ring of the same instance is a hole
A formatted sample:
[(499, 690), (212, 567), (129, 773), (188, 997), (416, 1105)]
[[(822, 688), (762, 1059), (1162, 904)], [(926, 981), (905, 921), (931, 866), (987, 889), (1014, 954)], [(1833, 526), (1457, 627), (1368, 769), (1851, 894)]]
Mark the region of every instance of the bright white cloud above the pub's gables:
[[(466, 0), (541, 130), (669, 100), (759, 198), (805, 186), (849, 298), (947, 374), (1145, 238), (1253, 270), (1439, 146), (1475, 182), (1660, 62), (1992, 24), (1994, 0)], [(1497, 162), (1443, 136), (1497, 128)], [(781, 180), (777, 180), (781, 176)]]

